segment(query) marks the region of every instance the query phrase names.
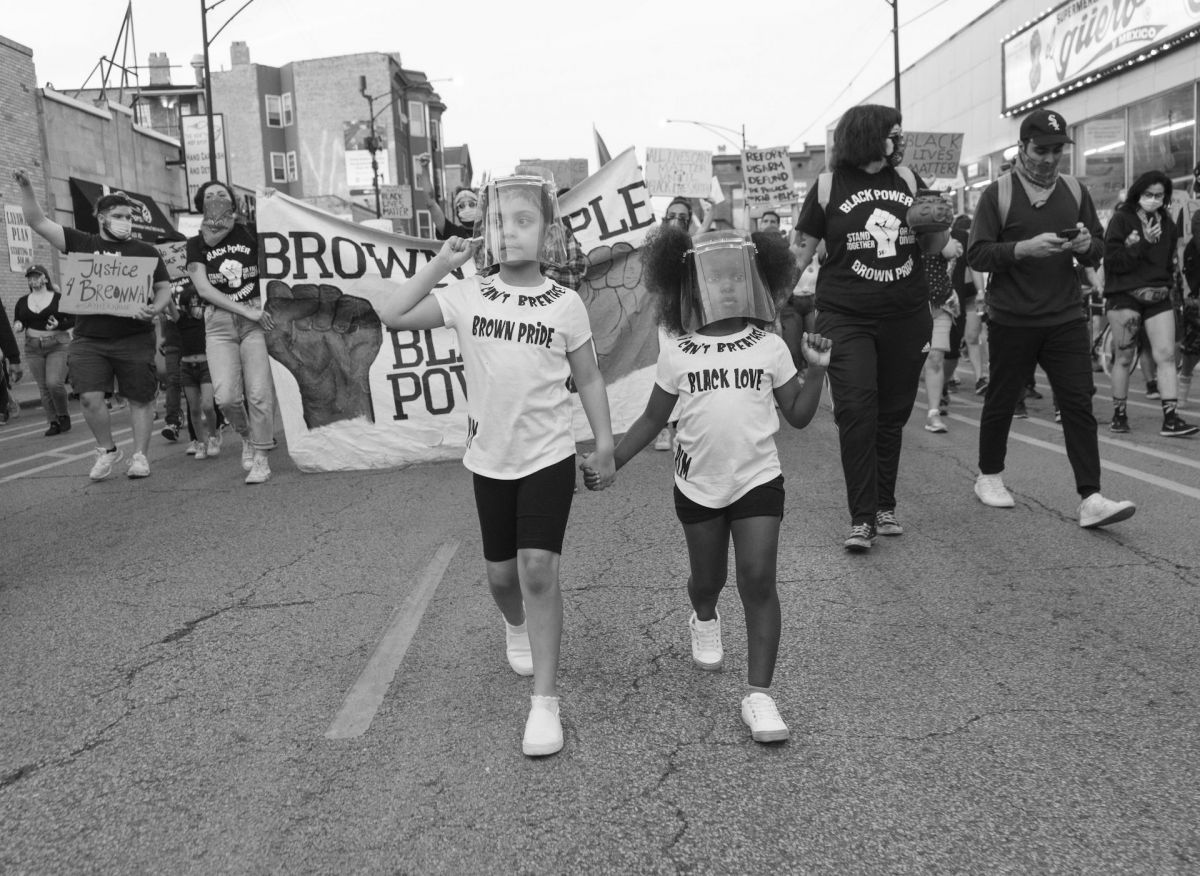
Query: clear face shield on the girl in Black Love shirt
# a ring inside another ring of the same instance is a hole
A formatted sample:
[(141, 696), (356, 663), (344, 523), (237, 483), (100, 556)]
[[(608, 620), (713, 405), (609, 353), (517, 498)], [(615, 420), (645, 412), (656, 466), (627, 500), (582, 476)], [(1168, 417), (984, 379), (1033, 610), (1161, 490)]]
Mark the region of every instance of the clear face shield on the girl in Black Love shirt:
[(738, 317), (774, 322), (775, 300), (758, 272), (755, 246), (740, 234), (698, 234), (684, 260), (679, 311), (685, 330)]

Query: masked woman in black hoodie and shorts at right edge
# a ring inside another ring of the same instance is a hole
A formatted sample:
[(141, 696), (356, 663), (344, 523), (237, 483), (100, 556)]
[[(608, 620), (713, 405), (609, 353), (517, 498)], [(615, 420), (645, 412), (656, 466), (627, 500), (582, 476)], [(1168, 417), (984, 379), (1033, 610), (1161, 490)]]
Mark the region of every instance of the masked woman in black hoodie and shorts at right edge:
[(1129, 370), (1145, 329), (1157, 366), (1163, 425), (1158, 433), (1182, 438), (1200, 432), (1176, 412), (1178, 380), (1175, 371), (1175, 307), (1171, 287), (1177, 271), (1180, 229), (1171, 220), (1171, 179), (1148, 170), (1134, 180), (1124, 202), (1104, 232), (1104, 310), (1112, 329), (1114, 432), (1129, 431), (1127, 400)]

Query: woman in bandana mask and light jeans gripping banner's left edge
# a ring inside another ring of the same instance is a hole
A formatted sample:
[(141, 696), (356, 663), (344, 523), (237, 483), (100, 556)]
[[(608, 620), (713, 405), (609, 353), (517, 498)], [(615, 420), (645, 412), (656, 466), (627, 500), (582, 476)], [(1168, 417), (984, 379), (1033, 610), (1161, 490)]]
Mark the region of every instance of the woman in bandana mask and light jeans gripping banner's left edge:
[(187, 241), (187, 272), (209, 305), (204, 331), (216, 402), (241, 436), (246, 482), (265, 484), (266, 454), (275, 446), (275, 384), (264, 332), (275, 320), (258, 284), (258, 238), (236, 221), (234, 193), (224, 182), (200, 186), (196, 209), (204, 222)]

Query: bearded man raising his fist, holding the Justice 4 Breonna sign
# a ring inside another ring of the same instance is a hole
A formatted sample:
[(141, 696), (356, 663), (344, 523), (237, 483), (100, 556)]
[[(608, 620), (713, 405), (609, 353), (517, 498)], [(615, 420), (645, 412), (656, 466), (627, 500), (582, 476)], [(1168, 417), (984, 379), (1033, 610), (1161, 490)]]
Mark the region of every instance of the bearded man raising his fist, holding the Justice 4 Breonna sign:
[(110, 192), (96, 202), (98, 234), (64, 228), (47, 218), (34, 197), (34, 187), (24, 170), (13, 173), (20, 187), (25, 221), (50, 246), (62, 252), (94, 252), (109, 256), (151, 258), (154, 300), (142, 306), (138, 316), (78, 316), (74, 338), (67, 353), (71, 385), (79, 392), (83, 418), (96, 438), (96, 461), (90, 478), (103, 480), (124, 457), (113, 440), (112, 420), (104, 394), (114, 386), (128, 401), (133, 427), (133, 455), (126, 474), (150, 475), (150, 430), (154, 426), (154, 398), (158, 391), (155, 367), (155, 331), (151, 320), (170, 304), (170, 275), (158, 251), (133, 238), (133, 212), (142, 206), (124, 192)]

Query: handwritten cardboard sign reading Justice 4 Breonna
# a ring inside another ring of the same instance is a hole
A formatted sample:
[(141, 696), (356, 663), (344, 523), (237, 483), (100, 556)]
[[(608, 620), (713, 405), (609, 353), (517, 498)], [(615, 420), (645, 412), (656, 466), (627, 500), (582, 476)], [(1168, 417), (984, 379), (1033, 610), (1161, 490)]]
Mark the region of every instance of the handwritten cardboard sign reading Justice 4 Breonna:
[(64, 313), (136, 317), (154, 299), (156, 258), (68, 252), (60, 265)]

